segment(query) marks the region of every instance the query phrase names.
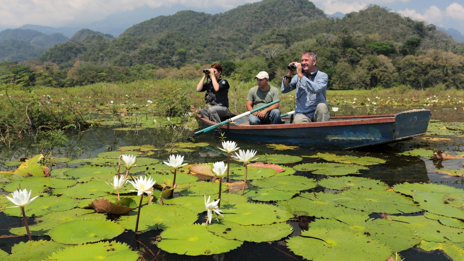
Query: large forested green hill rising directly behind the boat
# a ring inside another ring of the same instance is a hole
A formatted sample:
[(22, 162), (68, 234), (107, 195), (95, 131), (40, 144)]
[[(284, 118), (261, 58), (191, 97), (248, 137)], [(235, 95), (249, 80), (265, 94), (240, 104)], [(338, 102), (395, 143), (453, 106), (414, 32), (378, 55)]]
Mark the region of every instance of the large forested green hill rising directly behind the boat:
[(32, 62), (39, 63), (35, 68), (55, 83), (74, 86), (195, 78), (201, 66), (220, 62), (226, 77), (251, 80), (263, 70), (281, 77), (290, 61), (313, 49), (333, 89), (464, 88), (464, 43), (379, 6), (340, 19), (327, 17), (308, 0), (262, 0), (214, 15), (159, 16), (116, 39), (83, 31), (73, 40), (50, 48)]

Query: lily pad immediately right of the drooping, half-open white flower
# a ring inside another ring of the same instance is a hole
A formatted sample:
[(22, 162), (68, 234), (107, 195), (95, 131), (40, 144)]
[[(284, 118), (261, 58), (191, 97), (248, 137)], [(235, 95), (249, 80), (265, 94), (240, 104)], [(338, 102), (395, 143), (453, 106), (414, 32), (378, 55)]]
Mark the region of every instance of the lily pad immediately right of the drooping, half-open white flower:
[(284, 222), (293, 217), (290, 211), (270, 204), (241, 203), (222, 208), (224, 217), (221, 220), (232, 221), (240, 225), (265, 225)]

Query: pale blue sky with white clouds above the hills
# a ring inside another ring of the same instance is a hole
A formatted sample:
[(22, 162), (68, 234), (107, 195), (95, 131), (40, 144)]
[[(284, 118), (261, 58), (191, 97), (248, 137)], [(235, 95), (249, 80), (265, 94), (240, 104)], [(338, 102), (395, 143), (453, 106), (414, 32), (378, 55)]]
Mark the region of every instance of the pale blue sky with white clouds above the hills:
[[(17, 28), (25, 24), (70, 26), (91, 23), (106, 16), (140, 7), (181, 5), (186, 10), (214, 9), (225, 12), (257, 0), (0, 0), (0, 28)], [(464, 33), (464, 2), (462, 0), (313, 0), (325, 13), (350, 13), (370, 4), (387, 7), (394, 12), (423, 20), (427, 24), (454, 28)], [(214, 7), (214, 8), (212, 8)]]

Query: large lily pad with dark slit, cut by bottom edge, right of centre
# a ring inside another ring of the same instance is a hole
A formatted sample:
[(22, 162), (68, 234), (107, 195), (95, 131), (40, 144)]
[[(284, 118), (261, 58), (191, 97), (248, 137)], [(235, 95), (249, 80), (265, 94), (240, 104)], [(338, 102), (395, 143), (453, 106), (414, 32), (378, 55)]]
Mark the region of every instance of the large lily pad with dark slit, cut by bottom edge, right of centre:
[(392, 254), (392, 249), (384, 244), (342, 229), (309, 228), (302, 231), (301, 236), (288, 239), (287, 247), (314, 261), (339, 260), (341, 256), (346, 261), (387, 260)]

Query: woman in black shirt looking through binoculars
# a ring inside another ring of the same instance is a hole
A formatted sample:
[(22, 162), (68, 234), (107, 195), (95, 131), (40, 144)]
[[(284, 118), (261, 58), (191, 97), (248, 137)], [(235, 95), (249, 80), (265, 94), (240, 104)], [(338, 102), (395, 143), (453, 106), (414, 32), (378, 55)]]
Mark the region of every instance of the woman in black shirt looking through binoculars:
[(220, 117), (229, 113), (229, 83), (221, 78), (222, 66), (219, 64), (212, 64), (211, 68), (203, 70), (203, 73), (197, 91), (206, 91), (206, 107), (200, 108), (199, 112), (201, 117), (219, 123)]

